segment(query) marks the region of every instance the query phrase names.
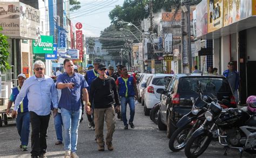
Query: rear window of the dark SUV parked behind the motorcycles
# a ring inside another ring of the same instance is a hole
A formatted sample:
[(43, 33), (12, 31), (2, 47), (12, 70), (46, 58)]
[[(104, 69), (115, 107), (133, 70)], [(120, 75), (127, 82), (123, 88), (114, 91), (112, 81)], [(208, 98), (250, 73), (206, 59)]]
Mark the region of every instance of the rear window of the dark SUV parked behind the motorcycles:
[(214, 94), (230, 92), (231, 88), (225, 78), (181, 78), (179, 82), (180, 92), (198, 91), (198, 86), (201, 84), (201, 90), (204, 94)]

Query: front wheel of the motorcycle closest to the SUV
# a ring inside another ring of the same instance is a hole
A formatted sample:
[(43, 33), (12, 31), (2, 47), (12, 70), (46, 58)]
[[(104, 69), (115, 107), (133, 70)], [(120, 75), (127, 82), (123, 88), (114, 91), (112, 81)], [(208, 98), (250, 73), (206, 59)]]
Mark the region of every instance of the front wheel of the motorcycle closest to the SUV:
[(186, 143), (191, 136), (187, 134), (190, 133), (191, 130), (193, 130), (193, 128), (191, 127), (192, 125), (186, 125), (175, 130), (169, 141), (170, 150), (172, 150), (173, 152), (179, 152), (179, 150), (185, 148)]

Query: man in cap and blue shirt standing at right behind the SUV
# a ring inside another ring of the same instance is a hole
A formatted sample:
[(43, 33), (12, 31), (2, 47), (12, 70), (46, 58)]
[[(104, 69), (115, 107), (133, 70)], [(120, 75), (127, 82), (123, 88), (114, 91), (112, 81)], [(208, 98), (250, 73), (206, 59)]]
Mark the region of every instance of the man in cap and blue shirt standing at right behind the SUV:
[(223, 72), (234, 93), (235, 101), (238, 103), (238, 87), (239, 87), (239, 73), (234, 70), (234, 63), (232, 61), (227, 64), (228, 70)]

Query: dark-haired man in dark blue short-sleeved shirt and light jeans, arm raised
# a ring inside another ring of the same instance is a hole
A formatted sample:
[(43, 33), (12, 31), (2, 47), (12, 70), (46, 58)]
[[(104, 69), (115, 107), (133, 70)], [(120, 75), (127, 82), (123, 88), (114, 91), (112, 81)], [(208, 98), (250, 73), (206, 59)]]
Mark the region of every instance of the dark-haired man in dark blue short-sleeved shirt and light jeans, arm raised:
[(62, 111), (62, 121), (64, 127), (64, 149), (65, 157), (78, 157), (77, 138), (79, 120), (82, 115), (81, 91), (83, 100), (86, 102), (85, 111), (90, 112), (90, 102), (86, 87), (88, 84), (82, 74), (74, 72), (73, 61), (65, 59), (65, 71), (57, 78), (57, 88), (62, 90), (59, 100), (59, 107)]

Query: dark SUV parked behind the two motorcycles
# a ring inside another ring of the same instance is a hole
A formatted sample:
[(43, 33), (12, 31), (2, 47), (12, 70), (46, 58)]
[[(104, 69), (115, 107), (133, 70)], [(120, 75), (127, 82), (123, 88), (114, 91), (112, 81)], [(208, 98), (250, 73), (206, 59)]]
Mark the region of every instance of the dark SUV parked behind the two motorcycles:
[(162, 94), (158, 128), (167, 128), (167, 138), (176, 130), (179, 119), (191, 111), (191, 97), (199, 96), (199, 84), (204, 95), (214, 95), (218, 100), (227, 99), (230, 101), (229, 107), (237, 107), (230, 84), (223, 75), (176, 74), (165, 90), (157, 90)]

